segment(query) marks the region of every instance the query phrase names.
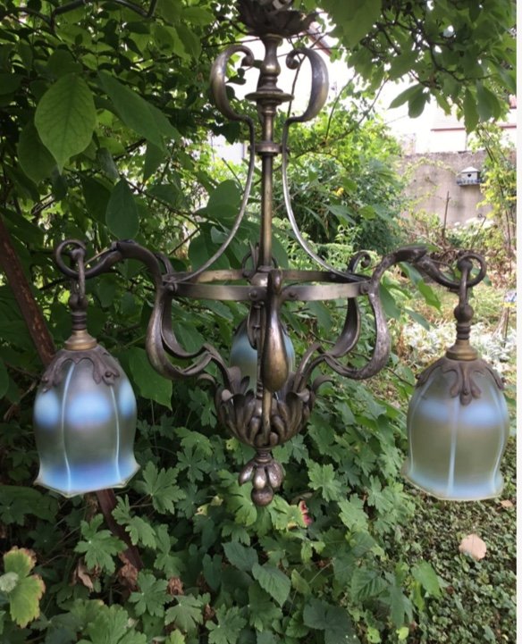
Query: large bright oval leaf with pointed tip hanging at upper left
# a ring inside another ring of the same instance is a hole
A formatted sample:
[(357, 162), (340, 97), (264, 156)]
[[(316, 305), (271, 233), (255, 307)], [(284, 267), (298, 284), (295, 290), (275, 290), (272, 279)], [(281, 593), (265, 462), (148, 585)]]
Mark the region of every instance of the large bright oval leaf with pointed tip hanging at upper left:
[(58, 170), (90, 143), (96, 127), (94, 99), (85, 80), (67, 74), (41, 97), (35, 113), (38, 135), (55, 157)]

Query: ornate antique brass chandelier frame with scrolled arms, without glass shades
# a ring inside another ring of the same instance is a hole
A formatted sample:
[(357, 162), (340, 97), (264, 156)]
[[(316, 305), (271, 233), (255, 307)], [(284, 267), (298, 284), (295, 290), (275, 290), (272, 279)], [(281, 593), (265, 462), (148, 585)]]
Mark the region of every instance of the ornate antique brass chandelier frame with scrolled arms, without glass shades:
[[(320, 112), (328, 93), (328, 74), (323, 59), (316, 51), (305, 47), (294, 49), (286, 58), (290, 69), (296, 70), (307, 60), (311, 68), (311, 90), (307, 108), (299, 116), (290, 116), (282, 125), (281, 141), (276, 140), (275, 120), (278, 108), (292, 99), (290, 94), (278, 88), (281, 72), (278, 62), (278, 47), (282, 38), (301, 33), (311, 21), (310, 16), (288, 7), (274, 10), (254, 0), (240, 1), (241, 19), (250, 33), (261, 39), (265, 57), (259, 65), (259, 79), (255, 92), (247, 99), (257, 106), (260, 136), (254, 120), (232, 107), (227, 91), (227, 71), (232, 58), (240, 54), (242, 65), (253, 67), (254, 54), (244, 45), (230, 46), (219, 55), (212, 68), (210, 85), (215, 104), (225, 117), (245, 124), (249, 132), (248, 175), (240, 210), (228, 237), (219, 250), (198, 269), (191, 272), (176, 272), (168, 257), (148, 250), (131, 240), (116, 241), (105, 253), (92, 261), (85, 261), (85, 247), (78, 240), (68, 239), (56, 248), (55, 260), (64, 275), (72, 279), (73, 291), (70, 304), (73, 311), (72, 339), (66, 343), (54, 364), (44, 376), (43, 388), (60, 385), (64, 377), (63, 364), (72, 361), (78, 364), (83, 359), (93, 363), (93, 378), (110, 384), (114, 381), (113, 364), (108, 361), (104, 349), (87, 332), (87, 300), (85, 280), (108, 272), (114, 264), (127, 259), (144, 263), (154, 283), (156, 292), (153, 312), (147, 329), (147, 355), (157, 372), (166, 378), (198, 377), (210, 382), (215, 390), (215, 408), (221, 424), (237, 439), (256, 450), (256, 456), (242, 469), (240, 482), (252, 481), (252, 498), (257, 505), (266, 505), (274, 497), (274, 490), (282, 484), (282, 466), (273, 456), (272, 449), (288, 441), (307, 423), (316, 399), (317, 389), (328, 380), (321, 375), (312, 380), (313, 373), (321, 364), (341, 376), (363, 380), (383, 369), (391, 350), (391, 339), (383, 305), (379, 297), (383, 273), (398, 263), (409, 263), (417, 271), (459, 296), (455, 310), (457, 318), (457, 341), (442, 358), (446, 371), (456, 374), (451, 396), (459, 396), (461, 404), (467, 405), (480, 397), (476, 385), (476, 372), (490, 372), (490, 368), (478, 359), (469, 346), (469, 330), (473, 310), (467, 303), (469, 289), (485, 276), (485, 263), (474, 252), (459, 256), (457, 272), (449, 265), (434, 260), (425, 247), (401, 247), (385, 255), (371, 275), (360, 272), (359, 266), (367, 266), (369, 257), (361, 252), (355, 255), (346, 269), (334, 268), (316, 255), (299, 230), (293, 213), (288, 181), (289, 132), (297, 123), (310, 121)], [(273, 188), (274, 160), (282, 159), (282, 192), (291, 229), (299, 246), (318, 265), (317, 270), (282, 270), (273, 257)], [(240, 228), (245, 216), (252, 188), (256, 157), (261, 163), (261, 212), (260, 238), (256, 247), (250, 247), (240, 269), (211, 270), (215, 261), (223, 255)], [(72, 256), (73, 265), (66, 261)], [(85, 265), (89, 265), (88, 269)], [(474, 271), (474, 268), (476, 269)], [(458, 277), (455, 277), (455, 276)], [(246, 334), (257, 361), (257, 383), (254, 386), (238, 364), (229, 361), (210, 344), (204, 344), (196, 352), (188, 352), (176, 338), (173, 330), (173, 301), (178, 299), (221, 300), (247, 303), (249, 313), (237, 333)], [(375, 345), (372, 355), (364, 366), (356, 368), (349, 364), (350, 352), (356, 347), (361, 330), (361, 314), (358, 301), (366, 298), (375, 319)], [(333, 346), (324, 347), (316, 341), (293, 367), (289, 340), (282, 323), (282, 306), (287, 302), (311, 302), (346, 300), (346, 317), (339, 337)], [(172, 358), (188, 363), (180, 367)], [(112, 359), (111, 359), (112, 360)], [(221, 381), (206, 372), (214, 364)], [(423, 377), (426, 379), (429, 374)], [(494, 375), (496, 384), (501, 382)]]

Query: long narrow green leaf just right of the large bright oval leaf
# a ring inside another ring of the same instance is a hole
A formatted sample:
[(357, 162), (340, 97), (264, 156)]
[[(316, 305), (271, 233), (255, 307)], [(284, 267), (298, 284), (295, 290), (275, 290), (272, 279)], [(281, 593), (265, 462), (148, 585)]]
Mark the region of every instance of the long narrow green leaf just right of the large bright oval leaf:
[(165, 148), (164, 138), (178, 138), (178, 131), (155, 105), (105, 71), (100, 71), (98, 78), (127, 127), (162, 150)]

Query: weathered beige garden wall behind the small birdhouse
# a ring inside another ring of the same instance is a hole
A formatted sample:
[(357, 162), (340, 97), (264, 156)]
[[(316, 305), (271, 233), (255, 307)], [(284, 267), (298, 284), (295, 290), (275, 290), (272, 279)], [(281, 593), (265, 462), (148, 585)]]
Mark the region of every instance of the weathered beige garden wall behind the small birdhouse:
[(483, 217), (491, 208), (478, 206), (484, 199), (480, 185), (459, 186), (459, 172), (468, 166), (482, 170), (485, 152), (437, 152), (425, 155), (407, 155), (401, 171), (408, 178), (406, 193), (411, 199), (407, 216), (418, 210), (435, 213), (444, 221), (448, 200), (447, 225)]

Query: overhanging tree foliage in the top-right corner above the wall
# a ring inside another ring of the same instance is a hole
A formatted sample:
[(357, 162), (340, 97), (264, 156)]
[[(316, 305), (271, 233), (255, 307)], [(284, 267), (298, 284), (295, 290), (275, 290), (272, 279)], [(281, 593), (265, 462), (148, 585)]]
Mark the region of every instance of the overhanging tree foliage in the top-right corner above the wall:
[(499, 119), (516, 94), (512, 0), (324, 0), (322, 7), (347, 62), (374, 88), (408, 74), (414, 84), (392, 106), (408, 103), (412, 118), (434, 97), (447, 113), (459, 105), (470, 131)]

